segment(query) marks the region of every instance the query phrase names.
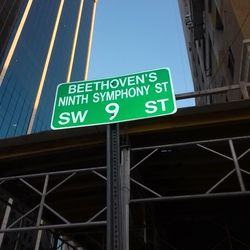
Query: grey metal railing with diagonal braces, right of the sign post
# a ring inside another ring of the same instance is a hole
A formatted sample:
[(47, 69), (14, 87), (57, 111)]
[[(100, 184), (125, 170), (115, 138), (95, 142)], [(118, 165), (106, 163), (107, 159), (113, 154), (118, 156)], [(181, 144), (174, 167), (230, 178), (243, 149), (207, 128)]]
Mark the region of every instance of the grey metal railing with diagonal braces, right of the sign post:
[[(248, 142), (248, 148), (241, 153), (240, 155), (237, 155), (234, 141), (247, 141)], [(206, 144), (213, 143), (216, 145), (216, 143), (226, 143), (224, 147), (228, 147), (230, 150), (231, 155), (226, 155), (224, 153), (221, 153), (217, 151), (216, 149), (213, 149), (211, 147), (208, 147)], [(222, 157), (228, 161), (231, 161), (233, 163), (234, 168), (229, 169), (228, 172), (221, 177), (219, 181), (216, 183), (211, 184), (211, 187), (209, 187), (208, 190), (206, 190), (204, 193), (199, 194), (191, 194), (191, 195), (177, 195), (177, 196), (166, 196), (161, 193), (159, 193), (156, 190), (153, 190), (151, 187), (146, 186), (145, 184), (139, 183), (136, 180), (131, 178), (131, 181), (135, 184), (139, 185), (141, 188), (144, 188), (147, 192), (154, 195), (154, 197), (149, 198), (142, 198), (142, 199), (133, 199), (130, 201), (130, 203), (144, 203), (144, 202), (157, 202), (157, 201), (173, 201), (173, 200), (185, 200), (185, 199), (201, 199), (201, 198), (215, 198), (215, 197), (222, 197), (222, 196), (238, 196), (238, 195), (250, 195), (250, 191), (246, 189), (245, 182), (242, 178), (242, 174), (250, 175), (250, 172), (246, 169), (243, 169), (240, 166), (240, 160), (245, 157), (250, 152), (250, 136), (241, 136), (241, 137), (228, 137), (228, 138), (219, 138), (219, 139), (211, 139), (211, 140), (200, 140), (200, 141), (190, 141), (190, 142), (182, 142), (182, 143), (172, 143), (172, 144), (163, 144), (163, 145), (154, 145), (154, 146), (147, 146), (147, 147), (138, 147), (138, 148), (132, 148), (131, 152), (136, 153), (139, 151), (150, 151), (143, 159), (138, 161), (138, 163), (134, 164), (130, 171), (133, 171), (135, 168), (138, 168), (139, 166), (143, 165), (145, 161), (149, 161), (150, 158), (158, 152), (160, 149), (164, 150), (172, 150), (175, 148), (183, 148), (185, 146), (194, 146), (201, 148), (207, 152), (210, 152), (211, 154), (217, 155), (218, 157)], [(204, 159), (206, 160), (206, 159)], [(232, 176), (234, 173), (236, 173), (237, 180), (239, 183), (240, 192), (224, 192), (224, 193), (216, 193), (214, 190), (221, 185), (223, 182), (225, 182), (230, 176)]]

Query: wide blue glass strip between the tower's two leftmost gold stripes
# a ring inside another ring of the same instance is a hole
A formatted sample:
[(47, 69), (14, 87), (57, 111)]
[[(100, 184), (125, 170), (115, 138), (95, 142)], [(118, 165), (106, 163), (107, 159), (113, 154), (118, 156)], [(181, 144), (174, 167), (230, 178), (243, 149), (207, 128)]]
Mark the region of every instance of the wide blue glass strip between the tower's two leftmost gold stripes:
[[(13, 113), (12, 117), (17, 117), (15, 112), (20, 112), (16, 106), (18, 96), (15, 94), (20, 95), (22, 91), (26, 92), (29, 108), (26, 109), (25, 119), (21, 116), (22, 119), (19, 121), (19, 123), (26, 123), (22, 125), (22, 131), (25, 133), (47, 56), (59, 3), (59, 0), (33, 1), (0, 88), (1, 106), (5, 109), (6, 114), (7, 112)], [(18, 88), (15, 83), (18, 84)], [(12, 131), (12, 119), (9, 116), (4, 117), (2, 123), (1, 129), (8, 131), (9, 127)], [(12, 132), (9, 135), (12, 136)]]

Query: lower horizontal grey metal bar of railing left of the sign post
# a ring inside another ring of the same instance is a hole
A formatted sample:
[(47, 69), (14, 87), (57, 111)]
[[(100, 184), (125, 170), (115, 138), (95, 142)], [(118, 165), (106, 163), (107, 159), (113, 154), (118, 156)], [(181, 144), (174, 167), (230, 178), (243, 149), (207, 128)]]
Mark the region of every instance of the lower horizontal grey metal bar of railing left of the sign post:
[(106, 225), (106, 221), (94, 221), (90, 223), (81, 222), (81, 223), (71, 223), (71, 224), (56, 224), (56, 225), (46, 225), (46, 226), (0, 229), (0, 233), (32, 231), (32, 230), (37, 231), (37, 230), (46, 230), (46, 229), (62, 229), (62, 228), (74, 228), (74, 227), (95, 227), (95, 226), (105, 226), (105, 225)]

